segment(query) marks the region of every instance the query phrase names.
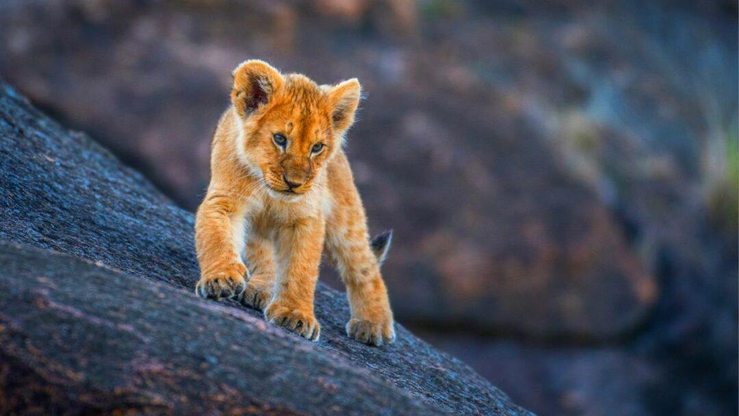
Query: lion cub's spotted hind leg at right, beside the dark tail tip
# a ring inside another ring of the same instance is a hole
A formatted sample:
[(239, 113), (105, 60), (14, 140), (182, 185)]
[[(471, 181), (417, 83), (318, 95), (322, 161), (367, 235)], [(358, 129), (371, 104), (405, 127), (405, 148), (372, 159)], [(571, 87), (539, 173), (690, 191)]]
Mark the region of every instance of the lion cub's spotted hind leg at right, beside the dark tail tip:
[[(344, 189), (350, 195), (333, 209), (326, 225), (326, 249), (336, 265), (341, 280), (347, 285), (352, 318), (347, 335), (357, 341), (382, 345), (395, 341), (392, 310), (380, 274), (378, 256), (369, 245), (364, 208), (356, 190)], [(347, 202), (350, 202), (347, 205)], [(387, 237), (386, 237), (387, 238)]]

